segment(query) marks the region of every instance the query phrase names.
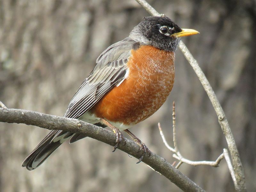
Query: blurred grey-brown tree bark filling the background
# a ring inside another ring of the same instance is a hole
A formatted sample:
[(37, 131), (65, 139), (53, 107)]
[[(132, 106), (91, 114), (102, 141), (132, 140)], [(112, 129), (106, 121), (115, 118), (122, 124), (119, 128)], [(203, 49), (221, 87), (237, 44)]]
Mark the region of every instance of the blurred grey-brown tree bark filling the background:
[[(183, 38), (210, 81), (236, 139), (248, 191), (256, 188), (255, 1), (149, 1), (182, 28)], [(129, 35), (148, 13), (134, 0), (0, 0), (0, 100), (62, 116), (68, 102), (110, 44)], [(130, 130), (150, 150), (173, 162), (157, 122), (172, 143), (172, 101), (177, 139), (191, 160), (215, 160), (226, 148), (212, 105), (178, 50), (175, 84), (156, 114)], [(138, 129), (137, 129), (138, 128)], [(34, 171), (21, 168), (47, 130), (0, 123), (0, 191), (180, 191), (137, 159), (86, 138), (64, 143)], [(180, 171), (207, 191), (234, 191), (223, 161), (218, 168), (183, 164)]]

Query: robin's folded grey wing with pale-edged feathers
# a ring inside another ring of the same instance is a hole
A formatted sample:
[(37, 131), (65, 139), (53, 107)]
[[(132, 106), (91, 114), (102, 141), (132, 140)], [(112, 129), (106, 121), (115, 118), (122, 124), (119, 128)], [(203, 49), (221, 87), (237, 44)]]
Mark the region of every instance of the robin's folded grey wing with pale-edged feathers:
[(137, 42), (127, 37), (112, 44), (100, 54), (96, 60), (96, 67), (70, 101), (65, 117), (79, 118), (124, 79), (126, 63), (136, 44)]

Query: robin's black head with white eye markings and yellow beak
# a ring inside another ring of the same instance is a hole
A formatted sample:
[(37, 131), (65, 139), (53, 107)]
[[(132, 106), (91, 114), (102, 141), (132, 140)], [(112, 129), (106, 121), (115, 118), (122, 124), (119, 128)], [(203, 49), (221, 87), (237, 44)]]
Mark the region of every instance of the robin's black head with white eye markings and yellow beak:
[(144, 17), (135, 26), (130, 36), (141, 44), (152, 45), (165, 51), (176, 51), (181, 36), (190, 36), (199, 33), (193, 29), (181, 29), (168, 17)]

